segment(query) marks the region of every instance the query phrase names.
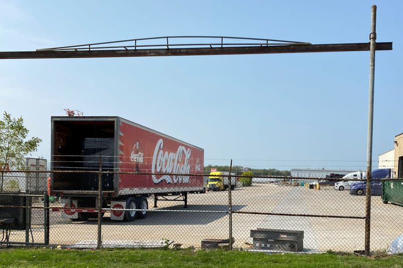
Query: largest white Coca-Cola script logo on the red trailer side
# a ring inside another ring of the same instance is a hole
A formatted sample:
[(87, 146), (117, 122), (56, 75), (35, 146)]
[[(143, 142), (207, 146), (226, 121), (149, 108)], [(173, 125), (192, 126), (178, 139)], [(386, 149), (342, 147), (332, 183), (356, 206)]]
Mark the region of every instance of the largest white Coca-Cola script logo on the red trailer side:
[[(164, 141), (159, 139), (154, 150), (153, 162), (151, 166), (151, 172), (153, 182), (158, 184), (162, 181), (166, 181), (169, 184), (177, 183), (189, 183), (189, 175), (168, 175), (174, 174), (189, 174), (190, 173), (190, 159), (191, 150), (186, 149), (185, 146), (179, 145), (176, 153), (164, 151)], [(155, 173), (165, 173), (160, 175)]]

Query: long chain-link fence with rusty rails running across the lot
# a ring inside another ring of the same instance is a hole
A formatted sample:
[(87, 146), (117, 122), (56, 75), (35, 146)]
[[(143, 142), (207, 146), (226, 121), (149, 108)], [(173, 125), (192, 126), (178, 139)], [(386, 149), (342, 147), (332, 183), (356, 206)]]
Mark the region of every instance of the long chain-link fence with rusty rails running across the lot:
[[(1, 175), (1, 244), (364, 250), (362, 178), (104, 170)], [(41, 193), (26, 187), (31, 177), (40, 178)], [(373, 177), (371, 193), (370, 248), (385, 251), (403, 233), (403, 180)]]

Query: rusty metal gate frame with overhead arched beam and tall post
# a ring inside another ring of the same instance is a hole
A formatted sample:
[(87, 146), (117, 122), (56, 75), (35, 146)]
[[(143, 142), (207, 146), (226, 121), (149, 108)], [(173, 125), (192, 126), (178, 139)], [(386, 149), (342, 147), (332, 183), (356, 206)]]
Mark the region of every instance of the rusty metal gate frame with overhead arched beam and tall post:
[[(282, 41), (282, 40), (271, 40), (271, 39), (255, 39), (259, 42), (266, 41), (264, 43), (257, 43), (254, 46), (249, 42), (245, 43), (245, 46), (234, 46), (236, 44), (223, 44), (223, 38), (228, 37), (218, 37), (221, 38), (221, 43), (218, 44), (182, 44), (185, 48), (170, 48), (170, 46), (176, 46), (176, 44), (169, 44), (169, 37), (159, 37), (166, 38), (166, 44), (161, 44), (158, 46), (166, 46), (165, 49), (137, 49), (142, 47), (137, 45), (137, 40), (133, 39), (129, 41), (134, 41), (134, 49), (128, 49), (128, 46), (111, 46), (110, 48), (120, 48), (120, 49), (99, 49), (96, 47), (91, 47), (93, 44), (79, 45), (73, 47), (59, 47), (50, 49), (40, 49), (36, 51), (11, 51), (11, 52), (0, 52), (0, 59), (34, 59), (34, 58), (89, 58), (89, 57), (143, 57), (143, 56), (194, 56), (194, 55), (235, 55), (235, 54), (273, 54), (273, 53), (307, 53), (307, 52), (340, 52), (340, 51), (370, 51), (370, 81), (369, 81), (369, 108), (368, 108), (368, 134), (367, 134), (367, 195), (366, 195), (366, 209), (365, 209), (365, 254), (370, 254), (370, 219), (371, 219), (371, 169), (372, 169), (372, 132), (373, 132), (373, 103), (374, 103), (374, 76), (375, 76), (375, 51), (376, 50), (392, 50), (392, 43), (376, 43), (376, 6), (372, 6), (372, 18), (371, 18), (371, 33), (369, 35), (369, 43), (350, 43), (350, 44), (310, 44), (306, 42), (292, 42), (292, 41)], [(171, 37), (180, 38), (180, 37)], [(216, 37), (214, 37), (216, 38)], [(145, 38), (144, 40), (149, 40), (153, 38)], [(253, 40), (251, 38), (240, 38), (246, 40)], [(124, 40), (128, 41), (128, 40)], [(289, 44), (284, 45), (270, 45), (268, 41), (279, 41), (279, 42), (289, 42)], [(116, 41), (123, 42), (123, 41)], [(110, 44), (116, 42), (104, 42), (98, 44)], [(209, 45), (209, 48), (205, 47), (186, 47), (191, 45)], [(213, 47), (215, 45), (215, 47)], [(216, 46), (217, 45), (217, 46)], [(228, 46), (224, 46), (228, 45)], [(239, 44), (238, 44), (239, 45)], [(83, 48), (82, 46), (88, 46)], [(150, 47), (150, 45), (145, 46)], [(70, 50), (63, 50), (64, 48)], [(232, 160), (231, 160), (232, 162)], [(229, 190), (229, 211), (231, 210), (231, 190)], [(234, 212), (239, 213), (239, 212)], [(101, 215), (101, 208), (98, 206), (98, 216)], [(302, 215), (301, 215), (302, 216)], [(360, 218), (361, 219), (361, 218)], [(100, 217), (98, 221), (100, 222)], [(230, 231), (231, 234), (231, 231)]]

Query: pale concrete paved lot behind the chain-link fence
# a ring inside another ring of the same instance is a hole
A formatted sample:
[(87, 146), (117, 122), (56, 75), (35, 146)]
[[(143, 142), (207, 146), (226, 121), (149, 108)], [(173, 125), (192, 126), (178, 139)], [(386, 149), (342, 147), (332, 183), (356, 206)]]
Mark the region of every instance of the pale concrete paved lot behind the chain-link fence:
[[(351, 196), (347, 191), (331, 188), (320, 191), (301, 187), (256, 184), (233, 191), (233, 210), (289, 214), (364, 216), (365, 197)], [(149, 199), (150, 208), (153, 200)], [(174, 240), (184, 246), (200, 247), (205, 238), (228, 237), (228, 194), (208, 192), (189, 194), (192, 211), (222, 211), (222, 213), (182, 212), (183, 203), (159, 202), (159, 208), (149, 212), (146, 219), (133, 222), (114, 222), (105, 214), (102, 237), (113, 241)], [(179, 210), (161, 212), (160, 209)], [(34, 213), (41, 224), (43, 214)], [(50, 243), (73, 244), (97, 237), (97, 221), (71, 222), (58, 212), (51, 212)], [(383, 250), (403, 233), (403, 207), (385, 205), (380, 197), (372, 197), (371, 249)], [(290, 229), (304, 231), (305, 251), (363, 250), (364, 220), (295, 216), (267, 216), (233, 214), (235, 246), (247, 248), (251, 243), (250, 230), (256, 228)], [(35, 241), (43, 241), (43, 227), (33, 229)], [(15, 231), (15, 240), (25, 239), (23, 231)]]

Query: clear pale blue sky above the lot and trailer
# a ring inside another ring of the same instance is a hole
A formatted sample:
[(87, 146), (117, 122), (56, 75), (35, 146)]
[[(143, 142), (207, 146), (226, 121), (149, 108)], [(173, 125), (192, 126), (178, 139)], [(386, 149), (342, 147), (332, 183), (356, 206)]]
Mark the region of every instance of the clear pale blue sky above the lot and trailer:
[[(393, 50), (376, 54), (374, 160), (403, 132), (401, 1), (58, 3), (0, 0), (0, 50), (171, 35), (368, 42), (376, 4), (377, 41)], [(205, 164), (357, 169), (368, 80), (369, 52), (1, 60), (0, 110), (43, 139), (33, 156), (49, 158), (50, 116), (70, 108), (198, 145)]]

